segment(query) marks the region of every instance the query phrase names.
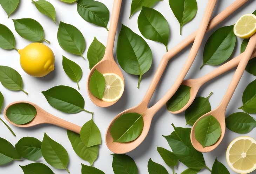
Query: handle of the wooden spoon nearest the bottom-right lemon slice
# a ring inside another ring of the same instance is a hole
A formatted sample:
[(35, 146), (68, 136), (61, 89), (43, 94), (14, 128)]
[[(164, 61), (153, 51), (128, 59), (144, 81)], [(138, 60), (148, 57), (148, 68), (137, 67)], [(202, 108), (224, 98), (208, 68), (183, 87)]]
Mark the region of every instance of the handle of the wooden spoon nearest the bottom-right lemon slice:
[(245, 67), (247, 66), (248, 61), (250, 60), (250, 57), (255, 49), (255, 46), (256, 46), (256, 34), (250, 38), (249, 43), (244, 51), (243, 58), (238, 64), (238, 67), (236, 68), (235, 74), (229, 84), (227, 92), (225, 93), (218, 108), (222, 108), (224, 111), (227, 109), (229, 101), (236, 90), (236, 87), (243, 75), (243, 72), (245, 70)]

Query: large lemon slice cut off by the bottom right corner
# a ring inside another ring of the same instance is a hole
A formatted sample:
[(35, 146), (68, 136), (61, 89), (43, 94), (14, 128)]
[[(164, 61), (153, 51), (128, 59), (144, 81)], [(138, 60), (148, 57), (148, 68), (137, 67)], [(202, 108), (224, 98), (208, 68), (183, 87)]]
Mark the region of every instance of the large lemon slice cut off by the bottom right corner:
[(234, 139), (228, 146), (226, 159), (237, 173), (250, 173), (256, 169), (256, 140), (248, 136)]

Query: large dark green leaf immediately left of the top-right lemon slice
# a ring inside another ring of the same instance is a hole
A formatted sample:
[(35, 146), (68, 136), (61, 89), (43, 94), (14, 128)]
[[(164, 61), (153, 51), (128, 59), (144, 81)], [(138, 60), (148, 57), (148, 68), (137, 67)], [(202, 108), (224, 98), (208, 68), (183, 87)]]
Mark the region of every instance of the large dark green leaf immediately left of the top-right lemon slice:
[(230, 58), (235, 45), (234, 25), (221, 27), (208, 38), (203, 51), (203, 65), (220, 65)]

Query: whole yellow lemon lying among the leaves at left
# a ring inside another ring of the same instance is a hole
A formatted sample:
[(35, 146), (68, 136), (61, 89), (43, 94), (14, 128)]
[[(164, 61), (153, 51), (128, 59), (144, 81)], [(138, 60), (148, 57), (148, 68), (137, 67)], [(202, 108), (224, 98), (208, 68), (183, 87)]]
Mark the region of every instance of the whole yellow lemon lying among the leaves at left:
[(22, 69), (33, 77), (43, 77), (54, 70), (54, 53), (45, 44), (29, 44), (19, 54)]

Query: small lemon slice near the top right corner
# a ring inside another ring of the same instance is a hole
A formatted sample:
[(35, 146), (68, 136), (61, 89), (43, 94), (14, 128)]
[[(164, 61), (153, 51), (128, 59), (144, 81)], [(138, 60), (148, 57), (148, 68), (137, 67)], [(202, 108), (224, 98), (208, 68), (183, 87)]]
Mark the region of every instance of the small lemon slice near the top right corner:
[(234, 26), (236, 36), (247, 39), (256, 32), (256, 16), (254, 14), (245, 14), (239, 18)]

